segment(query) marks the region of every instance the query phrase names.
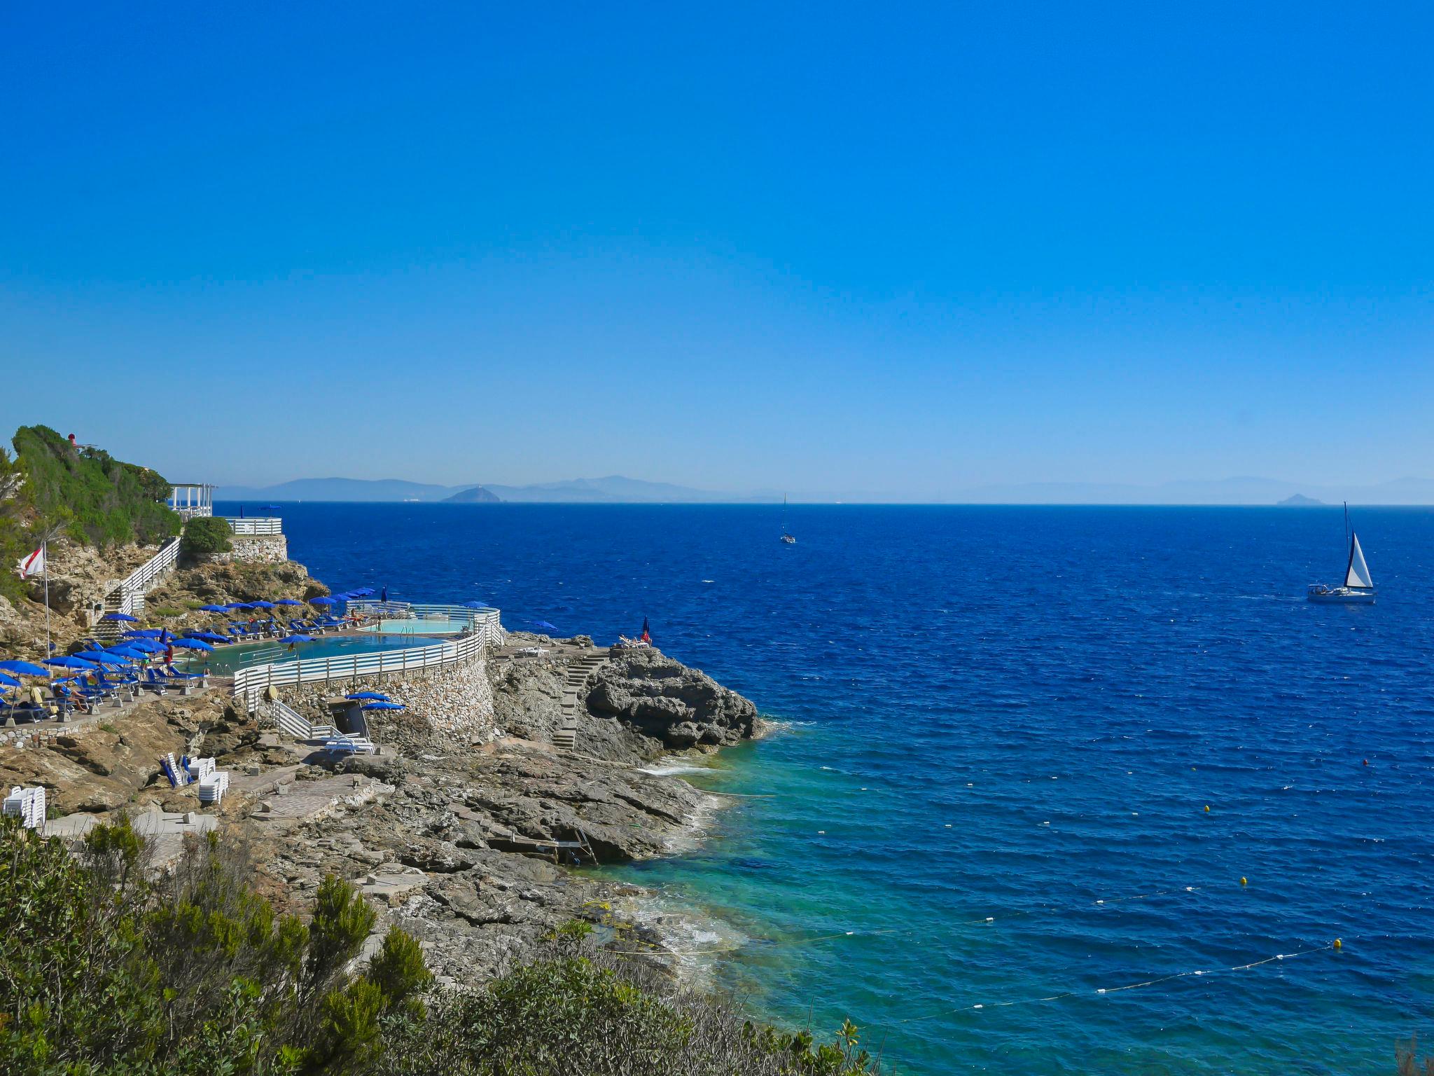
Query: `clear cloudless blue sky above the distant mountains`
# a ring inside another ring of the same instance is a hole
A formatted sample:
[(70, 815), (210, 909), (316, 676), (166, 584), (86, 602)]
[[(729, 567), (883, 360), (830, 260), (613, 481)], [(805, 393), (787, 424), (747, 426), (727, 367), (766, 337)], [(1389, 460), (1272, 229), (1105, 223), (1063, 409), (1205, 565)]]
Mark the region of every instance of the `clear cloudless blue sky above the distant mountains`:
[(1425, 6), (209, 7), (0, 9), (6, 428), (244, 483), (1434, 472)]

